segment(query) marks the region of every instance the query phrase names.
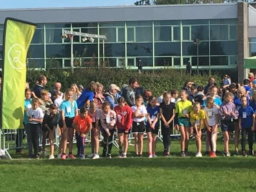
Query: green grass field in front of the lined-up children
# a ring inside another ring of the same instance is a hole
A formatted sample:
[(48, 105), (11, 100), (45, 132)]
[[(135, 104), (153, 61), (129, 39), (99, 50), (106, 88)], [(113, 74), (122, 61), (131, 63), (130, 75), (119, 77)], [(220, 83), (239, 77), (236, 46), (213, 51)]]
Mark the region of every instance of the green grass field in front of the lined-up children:
[[(230, 147), (234, 149), (232, 142)], [(204, 143), (202, 148), (204, 152)], [(13, 159), (0, 161), (0, 191), (256, 191), (256, 157), (195, 158), (194, 140), (186, 158), (178, 157), (178, 140), (172, 142), (172, 157), (162, 157), (162, 149), (159, 141), (158, 158), (148, 159), (145, 142), (143, 158), (132, 158), (129, 146), (127, 159), (115, 158), (118, 149), (113, 147), (112, 159), (65, 161), (32, 160), (10, 150)], [(223, 150), (220, 139), (218, 150)]]

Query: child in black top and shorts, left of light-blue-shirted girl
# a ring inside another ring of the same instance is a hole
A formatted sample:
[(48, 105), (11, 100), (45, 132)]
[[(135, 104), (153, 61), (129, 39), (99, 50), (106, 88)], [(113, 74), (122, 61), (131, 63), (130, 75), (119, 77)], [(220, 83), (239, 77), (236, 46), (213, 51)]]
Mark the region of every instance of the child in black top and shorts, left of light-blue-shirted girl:
[[(58, 107), (55, 104), (51, 104), (49, 108), (50, 108), (50, 113), (46, 111), (44, 114), (42, 131), (44, 136), (46, 136), (47, 133), (49, 134), (49, 142), (50, 142), (50, 149), (51, 149), (51, 155), (49, 159), (54, 159), (53, 137), (54, 137), (54, 132), (57, 125), (59, 124), (59, 126), (62, 127), (62, 119), (61, 119), (60, 113), (58, 112)], [(45, 144), (46, 144), (46, 140), (43, 140), (43, 143), (42, 143), (43, 151), (45, 151)]]

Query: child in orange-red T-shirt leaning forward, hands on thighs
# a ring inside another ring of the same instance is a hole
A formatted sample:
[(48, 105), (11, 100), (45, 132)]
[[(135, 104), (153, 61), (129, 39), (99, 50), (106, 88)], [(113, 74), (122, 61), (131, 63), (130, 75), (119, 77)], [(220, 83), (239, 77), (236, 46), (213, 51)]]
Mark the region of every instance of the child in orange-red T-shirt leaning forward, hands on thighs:
[(80, 109), (80, 114), (73, 120), (73, 127), (76, 129), (76, 142), (78, 143), (78, 153), (80, 158), (84, 159), (84, 140), (88, 132), (92, 129), (92, 119), (88, 116), (88, 111), (85, 107)]

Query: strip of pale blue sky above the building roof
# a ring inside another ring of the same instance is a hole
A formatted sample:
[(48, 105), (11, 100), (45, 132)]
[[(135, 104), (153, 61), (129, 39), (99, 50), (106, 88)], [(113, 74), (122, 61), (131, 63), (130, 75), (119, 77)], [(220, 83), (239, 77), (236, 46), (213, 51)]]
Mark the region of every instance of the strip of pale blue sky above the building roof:
[(136, 0), (4, 0), (0, 9), (133, 5)]

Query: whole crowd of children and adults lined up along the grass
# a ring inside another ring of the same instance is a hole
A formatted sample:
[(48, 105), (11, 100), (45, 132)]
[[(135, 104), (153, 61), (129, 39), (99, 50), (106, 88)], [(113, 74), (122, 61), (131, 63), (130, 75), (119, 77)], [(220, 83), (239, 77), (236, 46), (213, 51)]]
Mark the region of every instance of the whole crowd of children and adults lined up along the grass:
[[(111, 84), (105, 91), (102, 84), (90, 82), (84, 90), (79, 90), (76, 84), (72, 84), (64, 94), (59, 88), (53, 90), (52, 95), (43, 88), (46, 82), (46, 77), (40, 76), (34, 88), (34, 92), (41, 89), (40, 98), (29, 88), (25, 90), (24, 124), (30, 157), (39, 157), (38, 139), (42, 134), (42, 153), (46, 156), (45, 144), (48, 137), (49, 159), (54, 159), (53, 140), (54, 135), (58, 134), (54, 132), (58, 130), (57, 126), (60, 128), (58, 132), (61, 133), (57, 158), (62, 160), (67, 157), (84, 159), (85, 140), (89, 133), (92, 148), (88, 157), (100, 158), (99, 138), (102, 136), (101, 156), (111, 158), (116, 131), (120, 158), (127, 157), (130, 132), (134, 136), (136, 156), (142, 156), (146, 132), (148, 157), (157, 157), (156, 141), (159, 130), (163, 140), (163, 155), (170, 156), (171, 134), (174, 128), (180, 132), (181, 157), (188, 156), (191, 134), (194, 134), (196, 140), (195, 156), (202, 157), (202, 133), (206, 133), (206, 154), (208, 152), (209, 156), (214, 158), (217, 156), (218, 126), (224, 138), (223, 156), (230, 156), (230, 132), (233, 131), (235, 155), (239, 155), (240, 132), (242, 156), (247, 156), (246, 135), (248, 135), (249, 154), (254, 154), (252, 145), (255, 130), (256, 80), (252, 80), (250, 86), (250, 80), (246, 79), (240, 86), (231, 83), (229, 76), (225, 75), (223, 86), (217, 87), (214, 77), (211, 77), (205, 88), (186, 81), (180, 92), (166, 91), (158, 98), (152, 96), (150, 90), (141, 91), (143, 88), (139, 86), (136, 78), (131, 78), (128, 85), (123, 85), (121, 90), (115, 84)], [(72, 154), (74, 135), (77, 146), (76, 157)]]

